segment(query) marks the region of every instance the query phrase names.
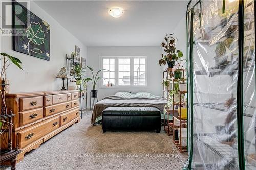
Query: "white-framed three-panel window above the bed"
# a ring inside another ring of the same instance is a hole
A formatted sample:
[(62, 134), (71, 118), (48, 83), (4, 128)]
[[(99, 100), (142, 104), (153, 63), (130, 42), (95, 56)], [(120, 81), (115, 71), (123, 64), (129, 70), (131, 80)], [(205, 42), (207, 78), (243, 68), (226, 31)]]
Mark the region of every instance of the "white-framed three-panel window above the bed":
[(147, 86), (147, 57), (101, 57), (101, 86)]

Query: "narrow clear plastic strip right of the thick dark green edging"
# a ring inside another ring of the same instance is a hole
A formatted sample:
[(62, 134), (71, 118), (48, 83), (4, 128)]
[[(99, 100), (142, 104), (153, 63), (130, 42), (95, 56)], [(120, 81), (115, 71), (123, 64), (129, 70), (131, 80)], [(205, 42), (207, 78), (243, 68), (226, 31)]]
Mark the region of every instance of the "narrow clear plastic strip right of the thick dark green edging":
[(243, 114), (246, 169), (256, 169), (256, 96), (254, 1), (246, 1), (244, 10)]

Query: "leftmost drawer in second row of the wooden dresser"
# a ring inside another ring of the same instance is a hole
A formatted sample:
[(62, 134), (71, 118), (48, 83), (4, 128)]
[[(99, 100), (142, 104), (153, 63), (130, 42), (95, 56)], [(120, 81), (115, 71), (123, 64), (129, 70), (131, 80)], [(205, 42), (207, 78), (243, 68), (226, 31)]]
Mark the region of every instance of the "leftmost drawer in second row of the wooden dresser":
[(44, 116), (43, 108), (19, 112), (19, 126), (35, 122)]

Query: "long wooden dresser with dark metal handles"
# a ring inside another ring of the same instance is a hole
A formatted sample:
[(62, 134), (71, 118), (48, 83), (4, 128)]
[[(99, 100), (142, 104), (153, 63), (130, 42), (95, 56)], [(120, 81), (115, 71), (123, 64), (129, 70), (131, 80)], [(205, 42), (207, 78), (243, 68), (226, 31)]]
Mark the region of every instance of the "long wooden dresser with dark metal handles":
[[(16, 114), (12, 146), (22, 149), (18, 161), (26, 152), (80, 121), (77, 90), (7, 94), (6, 105)], [(4, 136), (1, 148), (7, 147)]]

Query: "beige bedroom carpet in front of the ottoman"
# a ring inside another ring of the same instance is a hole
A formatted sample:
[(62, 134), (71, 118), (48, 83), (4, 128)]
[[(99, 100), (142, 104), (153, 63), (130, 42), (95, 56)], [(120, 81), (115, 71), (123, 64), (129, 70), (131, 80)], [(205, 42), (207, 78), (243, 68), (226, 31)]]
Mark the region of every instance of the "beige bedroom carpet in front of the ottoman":
[[(91, 126), (91, 114), (26, 154), (25, 169), (182, 169), (187, 153), (173, 155), (170, 136), (155, 132), (107, 131)], [(158, 155), (163, 154), (163, 155)], [(1, 167), (1, 166), (0, 166)], [(10, 169), (1, 167), (0, 169)]]

